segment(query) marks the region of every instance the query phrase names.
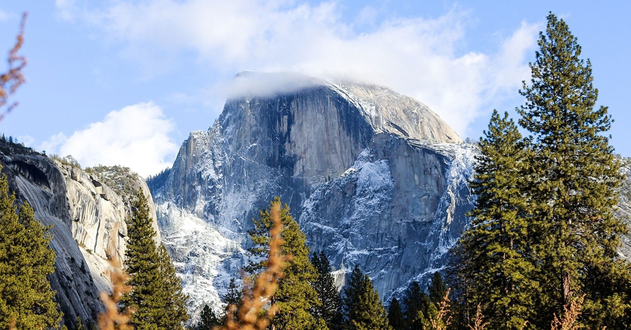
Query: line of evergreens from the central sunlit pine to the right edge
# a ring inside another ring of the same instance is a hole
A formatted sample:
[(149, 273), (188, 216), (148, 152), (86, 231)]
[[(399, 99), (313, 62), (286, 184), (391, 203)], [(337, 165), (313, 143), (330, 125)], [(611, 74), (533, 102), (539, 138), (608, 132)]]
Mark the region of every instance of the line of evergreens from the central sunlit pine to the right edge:
[[(550, 13), (538, 45), (517, 123), (494, 111), (478, 143), (477, 200), (451, 251), (449, 288), (437, 290), (439, 275), (429, 295), (413, 283), (386, 315), (356, 267), (341, 297), (322, 297), (326, 290), (314, 286), (321, 278), (331, 286), (320, 267), (326, 258), (309, 263), (304, 234), (285, 207), (282, 253), (293, 258), (269, 297), (277, 307), (274, 329), (631, 329), (631, 266), (618, 254), (628, 227), (614, 213), (623, 176), (609, 145), (612, 120), (596, 107), (591, 62), (581, 59), (567, 24)], [(264, 268), (269, 212), (254, 225), (249, 252), (259, 262), (246, 269), (252, 278)]]

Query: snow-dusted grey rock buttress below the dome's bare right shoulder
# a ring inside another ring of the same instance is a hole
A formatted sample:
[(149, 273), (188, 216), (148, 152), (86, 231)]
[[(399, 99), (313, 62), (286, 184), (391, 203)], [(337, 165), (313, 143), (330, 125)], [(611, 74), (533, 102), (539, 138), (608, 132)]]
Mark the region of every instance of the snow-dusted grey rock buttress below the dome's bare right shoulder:
[(477, 153), (375, 135), (350, 169), (305, 200), (300, 225), (310, 247), (332, 265), (361, 265), (386, 300), (412, 280), (427, 282), (468, 224)]

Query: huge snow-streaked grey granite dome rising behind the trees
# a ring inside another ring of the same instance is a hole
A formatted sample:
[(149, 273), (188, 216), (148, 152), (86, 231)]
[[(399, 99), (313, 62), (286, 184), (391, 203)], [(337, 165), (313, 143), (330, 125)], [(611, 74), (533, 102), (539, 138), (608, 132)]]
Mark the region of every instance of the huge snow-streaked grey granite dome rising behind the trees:
[(337, 273), (358, 263), (382, 297), (442, 267), (466, 225), (474, 147), (389, 88), (312, 82), (228, 100), (148, 182), (190, 310), (216, 305), (239, 277), (245, 232), (273, 196)]

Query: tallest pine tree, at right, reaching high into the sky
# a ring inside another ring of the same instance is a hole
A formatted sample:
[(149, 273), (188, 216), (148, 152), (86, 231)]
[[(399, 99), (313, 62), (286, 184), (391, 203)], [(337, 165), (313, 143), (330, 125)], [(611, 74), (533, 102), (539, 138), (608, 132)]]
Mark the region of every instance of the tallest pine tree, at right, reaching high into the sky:
[(622, 175), (606, 135), (612, 120), (605, 106), (595, 107), (591, 62), (580, 58), (577, 38), (554, 14), (547, 20), (518, 110), (519, 123), (533, 134), (528, 193), (540, 234), (533, 247), (541, 262), (537, 325), (549, 326), (553, 314), (584, 294), (583, 325), (628, 327), (615, 317), (626, 315), (628, 322), (630, 306), (623, 302), (631, 297), (621, 289), (628, 265), (616, 259), (627, 227), (613, 214)]

